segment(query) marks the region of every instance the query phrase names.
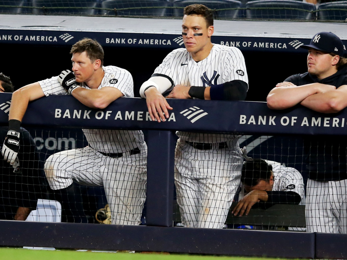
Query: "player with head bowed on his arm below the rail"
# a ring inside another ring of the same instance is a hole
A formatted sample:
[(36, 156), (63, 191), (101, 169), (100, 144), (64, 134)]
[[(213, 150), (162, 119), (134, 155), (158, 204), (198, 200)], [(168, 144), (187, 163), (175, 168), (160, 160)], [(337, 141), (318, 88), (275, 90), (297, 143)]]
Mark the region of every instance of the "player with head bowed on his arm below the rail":
[(235, 216), (248, 215), (257, 202), (264, 209), (274, 204), (299, 204), (304, 196), (303, 177), (295, 168), (274, 161), (252, 159), (243, 164), (241, 184), (235, 196), (238, 203), (232, 213)]

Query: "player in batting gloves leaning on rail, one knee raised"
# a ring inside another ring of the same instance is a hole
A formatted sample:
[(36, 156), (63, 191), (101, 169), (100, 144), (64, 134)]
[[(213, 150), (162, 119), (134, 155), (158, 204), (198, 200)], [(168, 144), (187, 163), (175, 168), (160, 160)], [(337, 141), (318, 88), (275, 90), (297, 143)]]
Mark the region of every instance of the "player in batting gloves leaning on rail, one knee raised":
[[(104, 109), (120, 97), (133, 97), (133, 78), (115, 66), (103, 66), (101, 45), (89, 38), (75, 43), (72, 70), (18, 89), (12, 96), (7, 139), (2, 148), (12, 164), (18, 153), (20, 122), (29, 101), (48, 95), (72, 95), (86, 106)], [(103, 185), (112, 224), (138, 225), (146, 192), (147, 148), (141, 131), (83, 129), (89, 145), (51, 155), (44, 170), (50, 187), (73, 194), (73, 181)], [(77, 207), (77, 206), (76, 206)]]

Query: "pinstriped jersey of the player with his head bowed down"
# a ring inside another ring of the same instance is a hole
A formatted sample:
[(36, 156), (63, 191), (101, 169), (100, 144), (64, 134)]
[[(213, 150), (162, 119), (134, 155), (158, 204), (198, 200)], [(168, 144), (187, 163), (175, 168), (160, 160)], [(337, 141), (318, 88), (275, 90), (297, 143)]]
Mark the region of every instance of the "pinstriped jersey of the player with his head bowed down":
[[(278, 162), (267, 161), (268, 164), (272, 165), (273, 172), (273, 191), (294, 191), (301, 197), (300, 205), (305, 202), (305, 191), (304, 191), (304, 180), (301, 173), (292, 167), (286, 167)], [(243, 184), (240, 185), (240, 194), (238, 200), (245, 196)]]

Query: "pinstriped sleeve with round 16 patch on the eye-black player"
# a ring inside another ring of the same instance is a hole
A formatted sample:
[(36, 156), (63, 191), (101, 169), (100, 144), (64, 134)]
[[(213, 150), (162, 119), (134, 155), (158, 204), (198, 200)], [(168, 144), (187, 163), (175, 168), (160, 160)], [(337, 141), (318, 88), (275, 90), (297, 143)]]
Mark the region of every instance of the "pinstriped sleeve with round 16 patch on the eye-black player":
[(226, 78), (224, 82), (242, 80), (248, 84), (245, 58), (242, 52), (236, 47), (230, 47), (225, 61), (224, 75)]

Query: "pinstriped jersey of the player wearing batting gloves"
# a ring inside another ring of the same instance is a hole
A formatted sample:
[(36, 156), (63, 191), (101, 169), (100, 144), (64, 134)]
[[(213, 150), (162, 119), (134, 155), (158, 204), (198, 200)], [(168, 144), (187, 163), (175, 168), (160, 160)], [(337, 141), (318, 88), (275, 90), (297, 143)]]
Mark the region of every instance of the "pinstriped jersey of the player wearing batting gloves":
[[(125, 97), (134, 97), (133, 77), (122, 68), (116, 66), (102, 67), (105, 74), (98, 89), (115, 87)], [(44, 95), (68, 95), (57, 77), (39, 81)], [(90, 89), (84, 83), (81, 87)], [(82, 129), (89, 146), (103, 153), (122, 153), (134, 149), (144, 142), (142, 131)]]

